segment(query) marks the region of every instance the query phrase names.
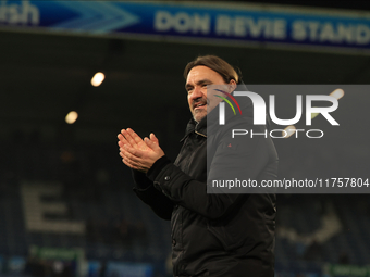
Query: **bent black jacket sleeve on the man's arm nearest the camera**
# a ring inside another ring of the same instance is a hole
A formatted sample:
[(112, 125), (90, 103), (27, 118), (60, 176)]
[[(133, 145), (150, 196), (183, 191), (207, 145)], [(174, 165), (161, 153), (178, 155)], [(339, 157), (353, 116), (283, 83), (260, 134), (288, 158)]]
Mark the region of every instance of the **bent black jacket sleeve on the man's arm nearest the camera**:
[[(276, 171), (266, 173), (266, 168), (269, 164), (276, 163), (278, 155), (270, 138), (237, 136), (232, 139), (231, 133), (226, 131), (218, 142), (208, 184), (226, 178), (275, 178)], [(174, 203), (210, 219), (226, 216), (238, 201), (246, 198), (240, 193), (207, 193), (206, 182), (195, 180), (170, 162), (149, 171), (147, 176), (155, 187)], [(244, 193), (248, 193), (248, 190)]]

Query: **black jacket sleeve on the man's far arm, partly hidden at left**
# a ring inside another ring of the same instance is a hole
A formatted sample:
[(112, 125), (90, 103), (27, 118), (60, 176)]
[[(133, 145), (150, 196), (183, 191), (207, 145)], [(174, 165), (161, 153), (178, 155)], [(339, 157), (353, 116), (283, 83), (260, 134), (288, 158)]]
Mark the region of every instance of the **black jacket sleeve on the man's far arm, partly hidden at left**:
[(132, 171), (135, 181), (134, 192), (136, 196), (161, 218), (170, 221), (173, 210), (173, 202), (158, 191), (151, 180), (144, 173)]

